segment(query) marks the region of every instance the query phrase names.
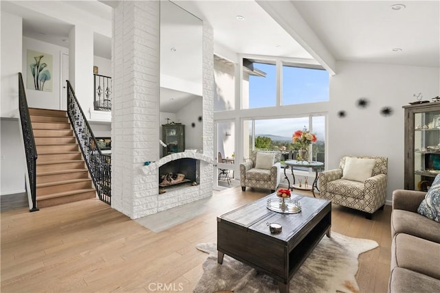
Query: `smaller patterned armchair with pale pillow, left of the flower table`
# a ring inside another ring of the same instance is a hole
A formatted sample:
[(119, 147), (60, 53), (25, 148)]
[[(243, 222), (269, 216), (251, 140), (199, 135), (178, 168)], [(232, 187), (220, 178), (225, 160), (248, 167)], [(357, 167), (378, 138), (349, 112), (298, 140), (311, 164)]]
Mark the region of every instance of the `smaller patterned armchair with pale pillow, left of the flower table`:
[(274, 192), (281, 180), (281, 152), (253, 150), (250, 159), (240, 164), (241, 190), (246, 187)]

